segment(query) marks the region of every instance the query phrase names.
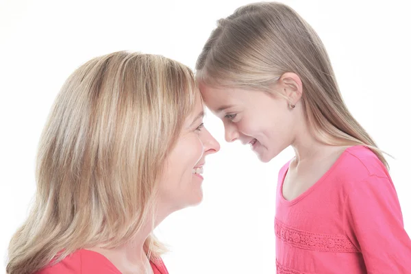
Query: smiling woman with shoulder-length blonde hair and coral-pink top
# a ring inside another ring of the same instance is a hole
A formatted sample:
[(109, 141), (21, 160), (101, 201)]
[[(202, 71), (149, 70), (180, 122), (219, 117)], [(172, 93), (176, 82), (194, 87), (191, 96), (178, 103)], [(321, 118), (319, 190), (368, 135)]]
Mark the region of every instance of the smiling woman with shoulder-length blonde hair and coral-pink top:
[(14, 234), (7, 272), (167, 273), (153, 229), (199, 203), (206, 155), (188, 67), (116, 52), (62, 87), (40, 140), (34, 208)]

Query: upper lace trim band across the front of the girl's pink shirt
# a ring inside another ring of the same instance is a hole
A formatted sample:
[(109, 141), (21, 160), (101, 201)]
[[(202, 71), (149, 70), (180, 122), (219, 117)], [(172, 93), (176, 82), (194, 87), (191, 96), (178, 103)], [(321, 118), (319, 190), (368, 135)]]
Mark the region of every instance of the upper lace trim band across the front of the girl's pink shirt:
[(288, 245), (301, 249), (340, 253), (360, 252), (347, 236), (304, 232), (288, 227), (277, 219), (275, 219), (275, 236)]

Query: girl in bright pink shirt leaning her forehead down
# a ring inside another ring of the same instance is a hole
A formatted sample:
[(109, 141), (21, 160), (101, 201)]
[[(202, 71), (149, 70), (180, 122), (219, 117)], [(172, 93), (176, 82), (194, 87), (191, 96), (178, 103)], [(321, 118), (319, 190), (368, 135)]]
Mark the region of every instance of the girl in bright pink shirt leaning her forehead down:
[(280, 3), (218, 21), (197, 60), (225, 139), (263, 162), (288, 146), (275, 216), (277, 273), (411, 273), (411, 241), (382, 151), (347, 110), (316, 32)]

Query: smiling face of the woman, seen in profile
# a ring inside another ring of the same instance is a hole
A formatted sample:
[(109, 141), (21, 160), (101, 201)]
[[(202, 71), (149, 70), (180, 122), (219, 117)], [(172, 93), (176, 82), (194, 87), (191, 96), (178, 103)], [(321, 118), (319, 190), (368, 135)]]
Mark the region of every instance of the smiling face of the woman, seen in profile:
[(200, 203), (203, 198), (203, 166), (206, 155), (220, 149), (203, 126), (203, 103), (198, 96), (195, 108), (184, 122), (177, 143), (166, 159), (160, 182), (160, 203), (175, 211)]

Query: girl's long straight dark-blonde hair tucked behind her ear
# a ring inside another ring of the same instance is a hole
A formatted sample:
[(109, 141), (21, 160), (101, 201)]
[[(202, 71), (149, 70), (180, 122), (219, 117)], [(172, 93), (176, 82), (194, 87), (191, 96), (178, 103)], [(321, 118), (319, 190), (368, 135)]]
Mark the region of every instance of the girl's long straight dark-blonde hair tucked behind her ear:
[(209, 86), (270, 92), (281, 75), (303, 82), (302, 105), (312, 135), (329, 145), (365, 145), (388, 163), (347, 109), (323, 42), (306, 21), (282, 3), (252, 3), (218, 21), (196, 64)]

